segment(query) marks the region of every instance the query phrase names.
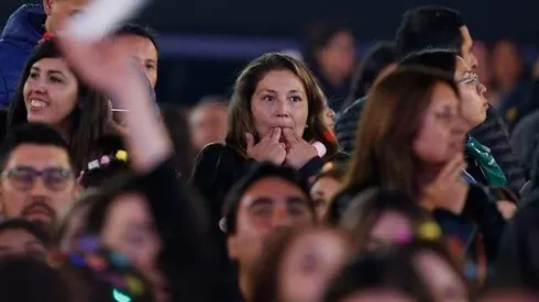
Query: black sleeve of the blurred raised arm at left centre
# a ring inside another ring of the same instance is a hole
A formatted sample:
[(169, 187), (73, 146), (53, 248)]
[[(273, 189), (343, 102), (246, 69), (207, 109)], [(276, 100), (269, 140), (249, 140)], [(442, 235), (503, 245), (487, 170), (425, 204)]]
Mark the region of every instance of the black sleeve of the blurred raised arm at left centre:
[(205, 213), (177, 178), (172, 159), (141, 176), (140, 188), (163, 242), (158, 264), (169, 281), (172, 301), (222, 301), (220, 268), (204, 224)]

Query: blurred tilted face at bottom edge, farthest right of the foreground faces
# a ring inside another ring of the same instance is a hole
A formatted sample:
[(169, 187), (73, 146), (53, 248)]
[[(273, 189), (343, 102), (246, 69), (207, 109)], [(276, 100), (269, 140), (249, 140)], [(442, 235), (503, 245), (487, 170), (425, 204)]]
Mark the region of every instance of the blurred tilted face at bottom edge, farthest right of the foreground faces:
[(429, 288), (435, 301), (466, 302), (468, 290), (453, 268), (432, 251), (422, 251), (416, 256), (415, 266)]

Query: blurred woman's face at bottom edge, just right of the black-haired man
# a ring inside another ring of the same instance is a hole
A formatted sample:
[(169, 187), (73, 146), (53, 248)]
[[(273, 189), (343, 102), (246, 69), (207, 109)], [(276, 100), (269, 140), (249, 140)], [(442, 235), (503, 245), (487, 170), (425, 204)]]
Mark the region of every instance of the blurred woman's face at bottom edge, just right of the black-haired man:
[(279, 301), (321, 301), (328, 282), (350, 254), (349, 242), (333, 231), (311, 232), (298, 237), (279, 265)]

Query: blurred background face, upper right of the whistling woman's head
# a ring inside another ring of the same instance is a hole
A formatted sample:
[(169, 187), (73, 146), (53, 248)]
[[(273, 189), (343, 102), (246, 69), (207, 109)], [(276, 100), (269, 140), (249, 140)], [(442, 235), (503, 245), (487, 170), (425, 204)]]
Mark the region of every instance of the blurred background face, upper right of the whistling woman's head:
[(355, 65), (354, 37), (349, 32), (337, 33), (322, 49), (318, 60), (326, 72), (345, 78), (353, 72)]

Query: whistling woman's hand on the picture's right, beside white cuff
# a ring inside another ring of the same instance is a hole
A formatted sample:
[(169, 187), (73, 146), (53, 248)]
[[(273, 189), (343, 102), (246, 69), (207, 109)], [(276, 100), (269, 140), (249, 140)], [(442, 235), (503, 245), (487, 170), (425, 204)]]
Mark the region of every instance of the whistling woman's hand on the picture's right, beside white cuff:
[(304, 138), (296, 135), (292, 128), (284, 128), (286, 141), (290, 145), (286, 153), (286, 164), (296, 169), (300, 169), (310, 159), (318, 156), (318, 152)]

